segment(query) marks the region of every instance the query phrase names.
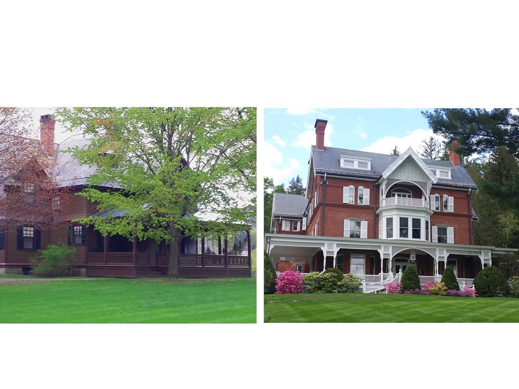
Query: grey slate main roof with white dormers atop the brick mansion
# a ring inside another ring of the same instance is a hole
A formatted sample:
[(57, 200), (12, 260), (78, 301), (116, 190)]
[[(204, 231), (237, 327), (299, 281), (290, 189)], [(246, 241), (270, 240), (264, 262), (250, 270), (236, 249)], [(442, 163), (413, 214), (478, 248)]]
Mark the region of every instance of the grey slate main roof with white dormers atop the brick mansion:
[[(311, 148), (313, 168), (316, 174), (331, 174), (345, 177), (357, 177), (368, 179), (379, 179), (382, 173), (397, 160), (398, 156), (377, 154), (376, 152), (348, 150), (335, 147), (324, 147), (323, 151), (317, 150), (316, 146)], [(361, 157), (371, 159), (371, 171), (348, 169), (340, 167), (340, 157)], [(436, 161), (423, 159), (422, 161), (429, 167), (449, 168), (451, 179), (438, 178), (433, 186), (458, 187), (458, 188), (472, 188), (477, 189), (476, 184), (470, 177), (469, 173), (463, 166), (455, 166), (450, 161)]]

